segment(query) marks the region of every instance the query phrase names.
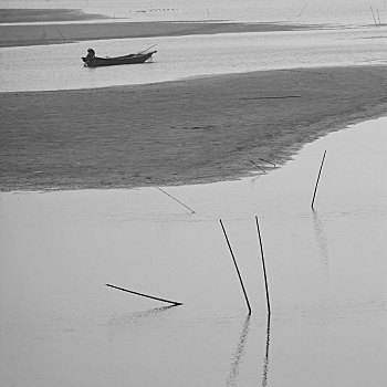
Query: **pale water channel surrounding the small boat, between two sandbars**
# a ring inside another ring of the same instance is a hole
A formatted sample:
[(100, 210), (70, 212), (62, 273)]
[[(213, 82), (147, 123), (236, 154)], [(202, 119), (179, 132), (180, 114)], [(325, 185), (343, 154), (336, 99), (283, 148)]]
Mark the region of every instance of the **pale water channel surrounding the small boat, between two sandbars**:
[[(91, 88), (271, 69), (387, 63), (387, 27), (226, 33), (0, 49), (0, 92)], [(86, 69), (93, 46), (116, 56), (157, 44), (153, 63)]]

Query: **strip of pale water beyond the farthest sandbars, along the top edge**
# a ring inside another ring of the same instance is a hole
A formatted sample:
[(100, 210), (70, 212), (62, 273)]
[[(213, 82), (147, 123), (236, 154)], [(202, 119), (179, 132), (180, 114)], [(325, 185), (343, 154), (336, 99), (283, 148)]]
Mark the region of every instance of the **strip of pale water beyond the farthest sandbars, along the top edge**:
[[(134, 21), (232, 20), (315, 24), (374, 24), (387, 19), (384, 0), (0, 0), (0, 8), (70, 8)], [(378, 21), (378, 20), (377, 20)]]

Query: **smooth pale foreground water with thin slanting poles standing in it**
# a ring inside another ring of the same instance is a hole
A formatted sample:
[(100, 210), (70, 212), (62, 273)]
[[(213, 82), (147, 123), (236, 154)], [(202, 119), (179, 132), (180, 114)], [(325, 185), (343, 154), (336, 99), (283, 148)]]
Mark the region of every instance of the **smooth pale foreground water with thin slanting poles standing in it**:
[(155, 188), (1, 194), (2, 384), (385, 385), (386, 124), (331, 134), (268, 175), (166, 188), (195, 213)]

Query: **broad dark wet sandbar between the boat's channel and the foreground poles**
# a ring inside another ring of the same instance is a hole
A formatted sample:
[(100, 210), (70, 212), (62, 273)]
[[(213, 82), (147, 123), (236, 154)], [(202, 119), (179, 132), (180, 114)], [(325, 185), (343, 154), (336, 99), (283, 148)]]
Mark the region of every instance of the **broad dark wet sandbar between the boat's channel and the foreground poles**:
[(387, 67), (268, 71), (142, 86), (0, 94), (2, 190), (234, 179), (385, 115)]

